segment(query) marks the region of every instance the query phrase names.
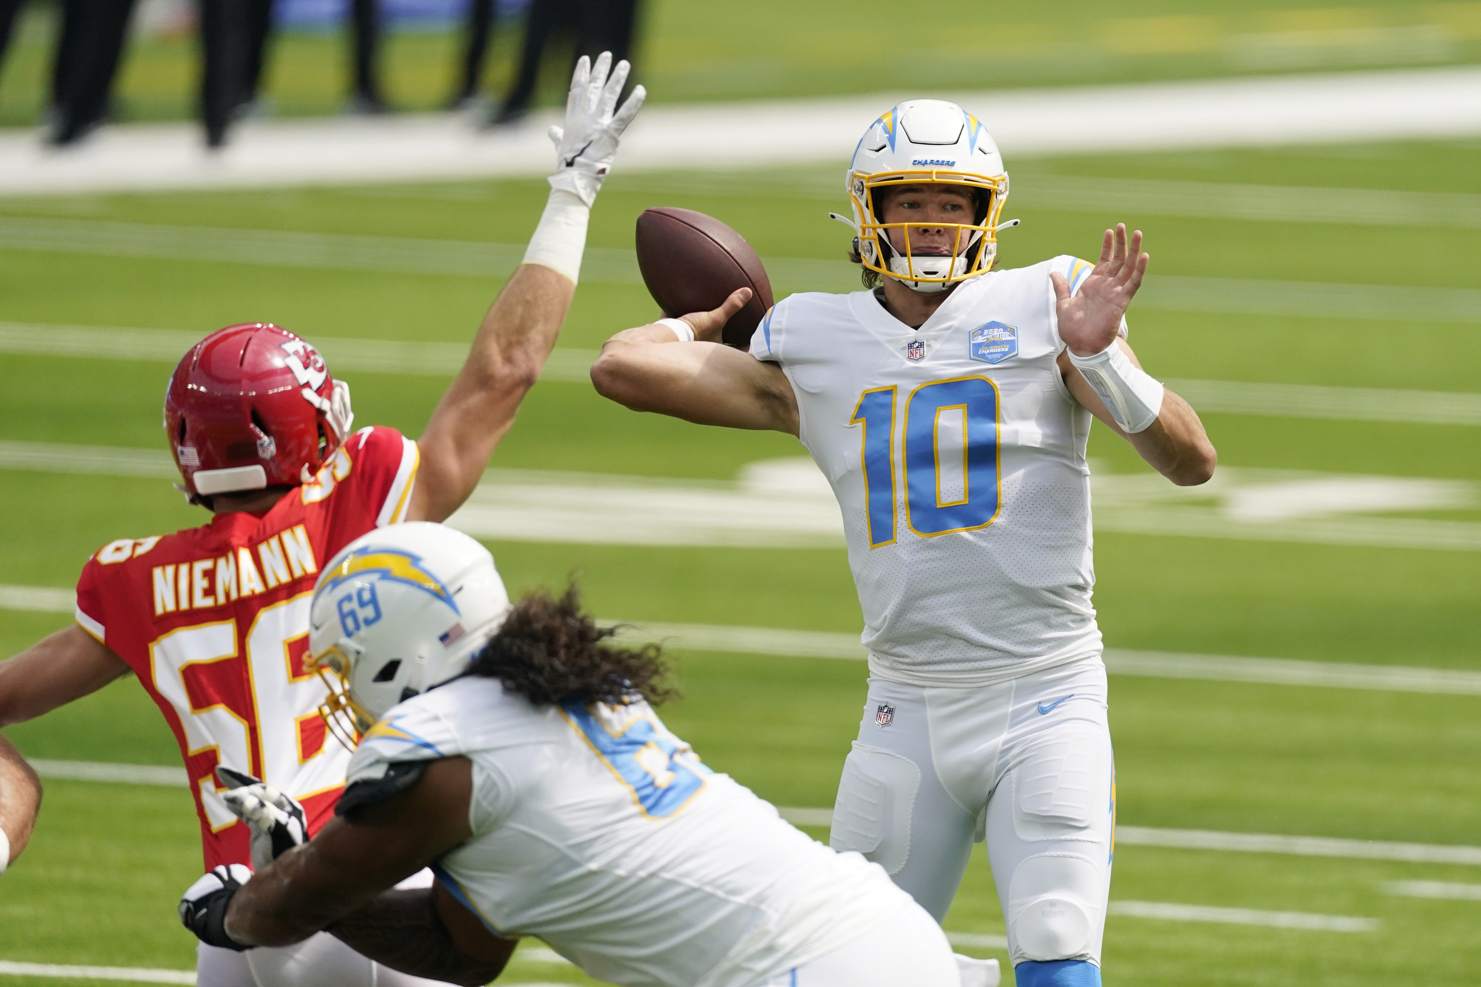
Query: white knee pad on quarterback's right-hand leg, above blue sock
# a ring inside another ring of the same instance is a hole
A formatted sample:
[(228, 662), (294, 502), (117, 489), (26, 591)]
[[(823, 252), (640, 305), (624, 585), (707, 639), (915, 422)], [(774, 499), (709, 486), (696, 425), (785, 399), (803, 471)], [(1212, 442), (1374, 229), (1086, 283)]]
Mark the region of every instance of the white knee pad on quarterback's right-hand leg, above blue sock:
[(1103, 888), (1100, 867), (1078, 854), (1040, 854), (1020, 863), (1009, 883), (1013, 959), (1084, 959), (1097, 951)]

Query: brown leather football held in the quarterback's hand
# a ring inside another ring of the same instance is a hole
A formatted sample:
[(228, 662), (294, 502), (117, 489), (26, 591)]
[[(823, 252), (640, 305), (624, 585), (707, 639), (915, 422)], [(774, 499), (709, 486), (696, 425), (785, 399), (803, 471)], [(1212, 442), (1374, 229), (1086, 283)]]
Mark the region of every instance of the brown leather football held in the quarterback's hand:
[(659, 206), (638, 216), (637, 247), (643, 283), (665, 316), (709, 311), (738, 288), (749, 288), (751, 301), (721, 338), (733, 347), (751, 344), (772, 307), (772, 282), (745, 237), (702, 212)]

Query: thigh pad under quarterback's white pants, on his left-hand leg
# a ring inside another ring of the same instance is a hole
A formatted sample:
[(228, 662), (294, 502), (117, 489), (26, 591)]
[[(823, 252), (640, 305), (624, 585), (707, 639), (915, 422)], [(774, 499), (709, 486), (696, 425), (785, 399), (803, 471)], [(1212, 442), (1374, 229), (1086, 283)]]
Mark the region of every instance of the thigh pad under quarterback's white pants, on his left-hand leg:
[(921, 787), (914, 760), (857, 741), (843, 765), (828, 845), (857, 851), (889, 874), (896, 874), (911, 852), (911, 812)]

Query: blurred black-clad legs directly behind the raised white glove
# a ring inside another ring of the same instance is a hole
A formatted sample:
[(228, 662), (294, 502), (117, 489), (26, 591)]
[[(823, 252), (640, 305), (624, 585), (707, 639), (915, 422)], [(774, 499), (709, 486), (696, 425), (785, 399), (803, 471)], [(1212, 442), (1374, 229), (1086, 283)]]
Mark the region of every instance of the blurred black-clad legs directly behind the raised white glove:
[(572, 62), (582, 55), (595, 58), (601, 52), (612, 52), (615, 62), (624, 58), (631, 62), (637, 9), (638, 0), (532, 0), (524, 18), (520, 71), (490, 124), (517, 123), (529, 113), (541, 62), (552, 43), (573, 37), (576, 50)]

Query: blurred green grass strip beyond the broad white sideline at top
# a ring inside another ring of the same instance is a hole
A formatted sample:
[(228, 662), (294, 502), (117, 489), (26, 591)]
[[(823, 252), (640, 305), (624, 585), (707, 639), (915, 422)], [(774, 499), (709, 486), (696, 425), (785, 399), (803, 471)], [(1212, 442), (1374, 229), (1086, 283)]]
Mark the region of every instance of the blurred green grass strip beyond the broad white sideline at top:
[[(44, 99), (52, 12), (33, 7), (0, 67), (0, 126), (34, 123)], [(492, 96), (502, 96), (515, 71), (518, 30), (501, 24), (495, 34), (484, 80)], [(1208, 0), (1115, 9), (1071, 0), (964, 4), (915, 18), (887, 0), (649, 0), (640, 37), (638, 79), (656, 99), (752, 99), (1465, 64), (1481, 55), (1481, 3), (1256, 0), (1231, 10)], [(452, 33), (395, 33), (385, 53), (391, 102), (440, 107), (453, 86), (456, 44)], [(338, 111), (345, 59), (338, 34), (286, 34), (267, 89), (275, 111)], [(558, 102), (566, 62), (551, 58), (548, 68), (544, 98)], [(120, 77), (118, 117), (188, 117), (197, 71), (194, 37), (139, 41)]]

